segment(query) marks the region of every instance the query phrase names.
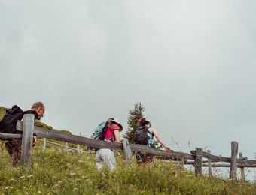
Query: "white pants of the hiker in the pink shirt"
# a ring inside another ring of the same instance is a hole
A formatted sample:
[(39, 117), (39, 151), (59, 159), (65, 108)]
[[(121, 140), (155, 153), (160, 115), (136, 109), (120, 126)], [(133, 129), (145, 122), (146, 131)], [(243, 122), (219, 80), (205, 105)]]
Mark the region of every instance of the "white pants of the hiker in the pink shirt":
[(105, 148), (96, 151), (96, 165), (98, 169), (107, 166), (109, 169), (113, 170), (116, 168), (115, 164), (114, 151)]

